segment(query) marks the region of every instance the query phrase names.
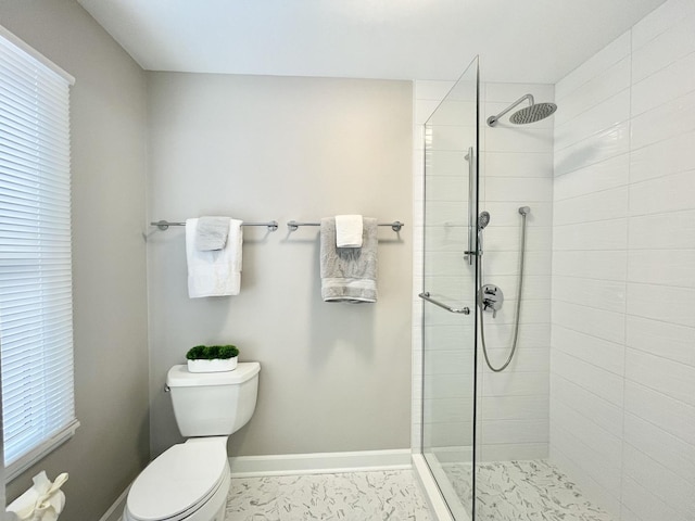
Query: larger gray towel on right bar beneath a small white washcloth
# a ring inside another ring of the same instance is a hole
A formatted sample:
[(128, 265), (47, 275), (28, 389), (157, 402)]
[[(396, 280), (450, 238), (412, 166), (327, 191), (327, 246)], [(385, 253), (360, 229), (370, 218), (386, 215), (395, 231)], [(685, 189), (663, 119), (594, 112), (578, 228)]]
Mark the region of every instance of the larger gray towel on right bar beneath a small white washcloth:
[(320, 228), (321, 297), (326, 302), (377, 302), (377, 219), (365, 217), (362, 247), (336, 246), (336, 218)]

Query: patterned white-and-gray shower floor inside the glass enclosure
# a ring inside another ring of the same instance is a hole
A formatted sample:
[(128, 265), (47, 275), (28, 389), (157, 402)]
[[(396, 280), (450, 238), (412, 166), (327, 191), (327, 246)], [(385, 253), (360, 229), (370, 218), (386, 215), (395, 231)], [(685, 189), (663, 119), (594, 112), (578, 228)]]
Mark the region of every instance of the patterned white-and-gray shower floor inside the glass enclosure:
[[(470, 466), (443, 468), (457, 495), (469, 503)], [(478, 521), (614, 521), (545, 460), (480, 463), (476, 484)]]

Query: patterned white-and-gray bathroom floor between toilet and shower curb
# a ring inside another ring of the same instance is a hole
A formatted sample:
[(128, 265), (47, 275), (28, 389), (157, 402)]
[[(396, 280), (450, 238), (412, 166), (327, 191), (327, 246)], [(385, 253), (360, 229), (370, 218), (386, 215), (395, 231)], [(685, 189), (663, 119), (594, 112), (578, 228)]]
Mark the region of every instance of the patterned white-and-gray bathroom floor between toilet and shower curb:
[(410, 470), (233, 478), (225, 521), (431, 521)]

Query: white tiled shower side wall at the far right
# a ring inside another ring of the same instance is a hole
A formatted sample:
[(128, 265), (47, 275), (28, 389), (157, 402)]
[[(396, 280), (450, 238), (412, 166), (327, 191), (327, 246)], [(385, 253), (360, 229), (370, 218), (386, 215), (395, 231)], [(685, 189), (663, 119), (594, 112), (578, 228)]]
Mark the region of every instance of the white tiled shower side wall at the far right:
[(616, 520), (695, 516), (695, 1), (556, 86), (551, 457)]

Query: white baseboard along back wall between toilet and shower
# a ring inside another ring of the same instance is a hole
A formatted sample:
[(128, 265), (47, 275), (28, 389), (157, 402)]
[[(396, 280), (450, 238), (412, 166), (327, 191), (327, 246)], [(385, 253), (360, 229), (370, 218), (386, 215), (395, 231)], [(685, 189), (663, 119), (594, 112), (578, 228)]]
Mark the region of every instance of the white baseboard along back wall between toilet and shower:
[(410, 468), (410, 449), (238, 456), (229, 467), (232, 478), (401, 470)]

